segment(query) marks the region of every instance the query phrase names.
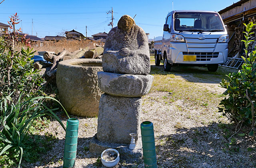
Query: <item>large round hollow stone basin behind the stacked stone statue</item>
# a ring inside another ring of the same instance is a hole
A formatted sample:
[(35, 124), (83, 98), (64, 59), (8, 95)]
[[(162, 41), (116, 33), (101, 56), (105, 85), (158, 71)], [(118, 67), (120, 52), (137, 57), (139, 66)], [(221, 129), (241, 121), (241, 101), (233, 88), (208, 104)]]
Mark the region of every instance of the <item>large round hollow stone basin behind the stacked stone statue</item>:
[(58, 63), (56, 83), (60, 102), (76, 116), (97, 116), (102, 92), (97, 72), (102, 71), (99, 59), (71, 59)]

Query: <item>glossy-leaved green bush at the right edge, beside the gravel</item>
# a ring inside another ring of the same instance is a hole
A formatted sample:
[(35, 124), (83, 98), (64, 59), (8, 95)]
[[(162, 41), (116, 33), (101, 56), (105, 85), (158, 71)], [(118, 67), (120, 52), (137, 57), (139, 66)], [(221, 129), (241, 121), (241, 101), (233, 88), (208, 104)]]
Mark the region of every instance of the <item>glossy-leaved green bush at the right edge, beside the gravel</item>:
[(250, 40), (250, 33), (253, 26), (250, 22), (249, 24), (244, 24), (246, 27), (246, 32), (243, 32), (246, 40), (242, 40), (245, 44), (245, 56), (244, 64), (242, 69), (236, 73), (230, 73), (227, 75), (228, 80), (222, 79), (220, 86), (226, 88), (224, 92), (228, 95), (227, 98), (221, 100), (219, 112), (222, 112), (223, 116), (226, 116), (229, 120), (252, 127), (249, 135), (252, 136), (256, 132), (255, 128), (255, 101), (256, 101), (256, 46), (255, 50), (248, 53), (248, 45), (254, 40)]

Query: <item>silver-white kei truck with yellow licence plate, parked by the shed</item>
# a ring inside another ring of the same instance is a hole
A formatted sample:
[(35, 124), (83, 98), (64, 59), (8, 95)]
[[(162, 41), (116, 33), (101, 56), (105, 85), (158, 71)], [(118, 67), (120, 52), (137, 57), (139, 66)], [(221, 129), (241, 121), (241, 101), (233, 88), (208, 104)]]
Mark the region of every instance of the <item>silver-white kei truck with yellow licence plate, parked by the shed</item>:
[(168, 13), (162, 40), (154, 42), (155, 64), (164, 70), (178, 66), (207, 66), (216, 72), (228, 57), (228, 32), (215, 11), (174, 10)]

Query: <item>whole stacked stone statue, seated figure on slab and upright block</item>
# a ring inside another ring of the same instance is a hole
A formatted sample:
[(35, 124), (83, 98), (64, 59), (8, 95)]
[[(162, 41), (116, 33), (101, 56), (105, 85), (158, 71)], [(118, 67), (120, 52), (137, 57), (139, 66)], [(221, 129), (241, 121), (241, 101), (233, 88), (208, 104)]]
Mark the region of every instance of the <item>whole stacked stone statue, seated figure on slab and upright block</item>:
[[(130, 144), (130, 133), (140, 133), (141, 97), (152, 85), (148, 39), (134, 20), (124, 15), (110, 30), (98, 72), (100, 98), (97, 138)], [(138, 136), (136, 137), (136, 140)]]

